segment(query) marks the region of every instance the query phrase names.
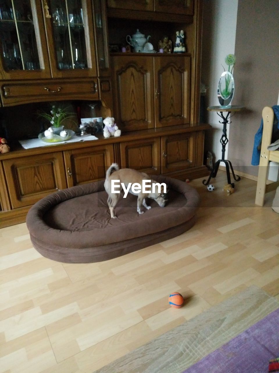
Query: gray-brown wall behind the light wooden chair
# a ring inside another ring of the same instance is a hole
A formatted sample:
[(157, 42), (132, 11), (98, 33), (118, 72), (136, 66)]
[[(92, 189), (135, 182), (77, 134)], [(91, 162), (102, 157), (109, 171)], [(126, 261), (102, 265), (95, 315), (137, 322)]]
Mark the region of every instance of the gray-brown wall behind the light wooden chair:
[(254, 135), (262, 109), (278, 101), (278, 0), (239, 0), (235, 38), (235, 96), (233, 105), (247, 108), (231, 117), (228, 159), (235, 170), (257, 176), (251, 166)]

